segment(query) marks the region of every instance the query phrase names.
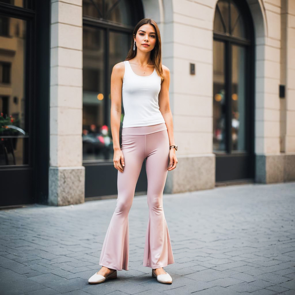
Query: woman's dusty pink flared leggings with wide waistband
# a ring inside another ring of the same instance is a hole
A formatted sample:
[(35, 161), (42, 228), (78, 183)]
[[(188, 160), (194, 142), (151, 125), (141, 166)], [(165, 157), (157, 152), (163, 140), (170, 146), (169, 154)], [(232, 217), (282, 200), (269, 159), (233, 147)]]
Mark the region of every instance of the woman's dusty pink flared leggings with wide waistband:
[(163, 211), (163, 190), (169, 165), (169, 137), (165, 123), (122, 129), (125, 166), (118, 171), (117, 205), (106, 231), (99, 264), (128, 271), (129, 219), (135, 186), (146, 159), (148, 178), (148, 226), (143, 266), (161, 268), (174, 263), (168, 226)]

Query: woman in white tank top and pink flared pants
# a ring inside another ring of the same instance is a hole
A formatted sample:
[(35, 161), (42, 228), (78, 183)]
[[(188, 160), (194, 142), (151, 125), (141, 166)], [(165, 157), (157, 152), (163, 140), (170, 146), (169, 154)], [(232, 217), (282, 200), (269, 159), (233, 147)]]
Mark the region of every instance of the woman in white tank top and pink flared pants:
[[(89, 283), (117, 278), (117, 270), (129, 270), (128, 213), (144, 159), (149, 219), (143, 266), (151, 267), (152, 276), (159, 282), (172, 283), (163, 269), (174, 263), (163, 211), (167, 173), (177, 164), (169, 105), (170, 72), (161, 65), (160, 32), (154, 20), (142, 19), (135, 26), (133, 38), (126, 60), (114, 65), (111, 76), (111, 130), (118, 198), (101, 250), (102, 267), (89, 278)], [(120, 149), (121, 96), (125, 114)]]

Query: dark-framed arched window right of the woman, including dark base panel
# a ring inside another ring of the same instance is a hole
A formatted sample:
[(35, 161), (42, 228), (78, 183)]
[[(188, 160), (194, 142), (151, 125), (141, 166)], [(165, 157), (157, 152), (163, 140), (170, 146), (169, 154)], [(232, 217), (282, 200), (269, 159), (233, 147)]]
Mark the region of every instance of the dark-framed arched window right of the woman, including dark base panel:
[(252, 178), (254, 173), (253, 40), (253, 21), (246, 1), (219, 0), (213, 26), (213, 152), (217, 182)]

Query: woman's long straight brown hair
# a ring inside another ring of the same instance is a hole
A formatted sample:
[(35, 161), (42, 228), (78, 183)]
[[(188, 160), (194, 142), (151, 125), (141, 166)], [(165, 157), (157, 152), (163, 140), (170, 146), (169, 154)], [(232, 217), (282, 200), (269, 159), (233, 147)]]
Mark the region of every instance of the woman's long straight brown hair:
[(138, 29), (144, 24), (151, 24), (155, 28), (157, 41), (156, 41), (154, 49), (150, 53), (150, 58), (155, 65), (155, 69), (156, 69), (158, 75), (161, 77), (161, 83), (162, 83), (164, 80), (164, 74), (163, 74), (163, 69), (162, 69), (161, 36), (160, 36), (160, 31), (159, 31), (158, 25), (153, 19), (144, 18), (137, 23), (137, 25), (135, 26), (135, 28), (133, 30), (131, 47), (130, 47), (130, 50), (129, 50), (125, 60), (130, 60), (135, 57), (135, 55), (137, 53), (137, 47), (135, 46), (135, 50), (133, 50), (134, 36), (136, 36)]

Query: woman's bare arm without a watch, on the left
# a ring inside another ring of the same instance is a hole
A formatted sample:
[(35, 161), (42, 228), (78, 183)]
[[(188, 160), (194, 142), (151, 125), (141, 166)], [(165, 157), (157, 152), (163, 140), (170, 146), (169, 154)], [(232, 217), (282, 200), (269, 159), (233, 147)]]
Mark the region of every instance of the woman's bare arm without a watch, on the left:
[(119, 130), (121, 121), (122, 83), (125, 65), (117, 63), (113, 67), (111, 75), (111, 131), (114, 147), (114, 167), (123, 172), (124, 156), (120, 149)]

